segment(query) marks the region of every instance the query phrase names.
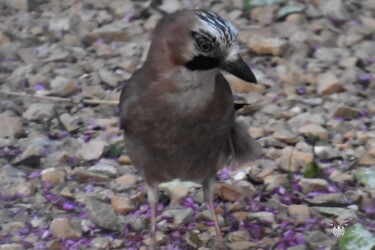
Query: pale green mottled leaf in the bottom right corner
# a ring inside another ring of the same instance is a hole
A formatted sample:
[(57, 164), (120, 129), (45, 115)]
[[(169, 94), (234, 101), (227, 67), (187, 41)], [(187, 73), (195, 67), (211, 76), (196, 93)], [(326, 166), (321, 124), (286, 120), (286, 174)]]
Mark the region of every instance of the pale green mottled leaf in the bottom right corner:
[(341, 250), (371, 250), (374, 247), (375, 236), (359, 223), (348, 227), (339, 238)]

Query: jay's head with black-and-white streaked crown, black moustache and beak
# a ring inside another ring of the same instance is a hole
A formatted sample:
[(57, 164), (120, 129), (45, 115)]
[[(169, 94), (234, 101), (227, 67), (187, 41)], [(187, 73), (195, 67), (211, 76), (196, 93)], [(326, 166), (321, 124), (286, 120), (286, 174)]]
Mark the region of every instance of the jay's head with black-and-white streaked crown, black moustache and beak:
[[(236, 28), (216, 13), (184, 10), (164, 17), (154, 31), (151, 57), (171, 61), (188, 70), (223, 69), (238, 78), (256, 83), (239, 54)], [(162, 53), (158, 53), (162, 52)]]

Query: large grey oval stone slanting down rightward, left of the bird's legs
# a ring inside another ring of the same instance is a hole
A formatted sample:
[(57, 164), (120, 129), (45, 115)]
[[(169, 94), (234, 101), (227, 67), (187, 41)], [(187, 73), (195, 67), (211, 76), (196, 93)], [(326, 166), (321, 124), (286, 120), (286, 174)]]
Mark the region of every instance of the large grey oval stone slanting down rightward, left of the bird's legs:
[(117, 216), (109, 204), (95, 199), (88, 199), (86, 201), (86, 209), (90, 220), (97, 226), (113, 231), (119, 229)]

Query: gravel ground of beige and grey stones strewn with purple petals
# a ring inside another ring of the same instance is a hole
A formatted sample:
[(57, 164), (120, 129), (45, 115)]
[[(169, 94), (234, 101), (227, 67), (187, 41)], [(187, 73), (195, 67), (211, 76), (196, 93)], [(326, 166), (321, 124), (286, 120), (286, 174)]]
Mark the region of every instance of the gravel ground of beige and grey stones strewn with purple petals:
[[(259, 82), (227, 76), (265, 156), (217, 175), (226, 247), (375, 246), (373, 0), (2, 0), (0, 250), (147, 248), (116, 104), (156, 22), (193, 7), (238, 27)], [(200, 187), (161, 190), (162, 249), (211, 249)]]

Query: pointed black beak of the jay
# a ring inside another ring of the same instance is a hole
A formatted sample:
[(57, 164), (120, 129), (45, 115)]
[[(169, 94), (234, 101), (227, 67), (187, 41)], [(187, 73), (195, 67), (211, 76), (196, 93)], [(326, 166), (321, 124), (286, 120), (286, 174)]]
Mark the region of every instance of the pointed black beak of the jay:
[(231, 73), (234, 76), (237, 76), (244, 81), (257, 83), (254, 73), (240, 56), (238, 56), (238, 59), (235, 61), (223, 61), (220, 63), (219, 68)]

